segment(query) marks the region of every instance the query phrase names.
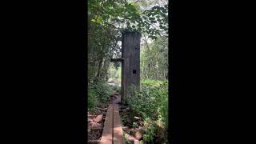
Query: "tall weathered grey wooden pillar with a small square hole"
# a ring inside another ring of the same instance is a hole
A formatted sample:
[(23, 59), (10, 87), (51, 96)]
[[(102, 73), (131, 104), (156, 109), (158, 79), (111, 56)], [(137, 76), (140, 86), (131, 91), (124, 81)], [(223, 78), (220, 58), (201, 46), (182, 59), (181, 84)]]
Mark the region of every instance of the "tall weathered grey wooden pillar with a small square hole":
[(122, 102), (126, 101), (130, 86), (140, 86), (140, 40), (141, 34), (122, 34)]

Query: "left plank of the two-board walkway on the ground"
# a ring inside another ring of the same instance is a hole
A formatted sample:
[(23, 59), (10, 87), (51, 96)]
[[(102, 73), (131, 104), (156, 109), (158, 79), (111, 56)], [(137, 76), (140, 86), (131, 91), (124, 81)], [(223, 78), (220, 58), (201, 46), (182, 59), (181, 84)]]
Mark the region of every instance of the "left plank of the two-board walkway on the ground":
[(112, 144), (113, 138), (113, 105), (108, 107), (102, 132), (101, 144)]

